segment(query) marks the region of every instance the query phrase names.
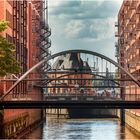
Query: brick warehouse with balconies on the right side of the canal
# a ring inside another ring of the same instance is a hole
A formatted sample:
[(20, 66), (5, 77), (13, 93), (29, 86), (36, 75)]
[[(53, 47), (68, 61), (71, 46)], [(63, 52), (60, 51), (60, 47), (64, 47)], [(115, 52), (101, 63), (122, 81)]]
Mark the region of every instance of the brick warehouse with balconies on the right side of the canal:
[[(140, 1), (124, 0), (118, 13), (118, 42), (116, 43), (118, 63), (136, 78), (140, 76)], [(139, 94), (140, 88), (126, 82), (125, 94)], [(126, 110), (126, 123), (140, 132), (140, 110)]]

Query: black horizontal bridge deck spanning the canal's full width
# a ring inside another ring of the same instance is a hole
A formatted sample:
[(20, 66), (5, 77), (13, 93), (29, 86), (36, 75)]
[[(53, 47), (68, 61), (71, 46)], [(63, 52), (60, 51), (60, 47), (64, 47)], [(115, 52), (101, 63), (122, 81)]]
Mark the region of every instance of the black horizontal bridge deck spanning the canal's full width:
[(140, 109), (140, 101), (1, 101), (0, 109), (23, 108), (93, 108)]

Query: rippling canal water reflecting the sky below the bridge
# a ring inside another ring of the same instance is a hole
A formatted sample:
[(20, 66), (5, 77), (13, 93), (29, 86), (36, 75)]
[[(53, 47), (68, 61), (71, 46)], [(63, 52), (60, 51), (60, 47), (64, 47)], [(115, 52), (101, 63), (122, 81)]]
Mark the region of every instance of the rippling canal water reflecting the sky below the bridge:
[(55, 119), (26, 135), (27, 139), (46, 140), (138, 140), (128, 128), (113, 119)]

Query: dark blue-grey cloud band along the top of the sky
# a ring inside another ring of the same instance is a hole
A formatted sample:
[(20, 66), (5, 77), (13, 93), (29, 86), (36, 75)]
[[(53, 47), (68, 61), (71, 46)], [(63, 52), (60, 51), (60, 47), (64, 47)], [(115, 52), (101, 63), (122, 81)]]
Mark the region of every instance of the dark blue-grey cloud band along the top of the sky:
[[(65, 0), (50, 7), (50, 15), (67, 19), (93, 19), (114, 17), (119, 4), (113, 1)], [(61, 16), (65, 15), (65, 16)]]

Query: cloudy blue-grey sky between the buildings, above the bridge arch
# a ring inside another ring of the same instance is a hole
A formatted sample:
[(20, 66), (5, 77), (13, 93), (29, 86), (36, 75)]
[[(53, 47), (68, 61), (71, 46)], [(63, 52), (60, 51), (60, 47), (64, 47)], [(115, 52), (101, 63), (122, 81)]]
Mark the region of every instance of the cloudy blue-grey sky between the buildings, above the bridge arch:
[(122, 0), (49, 0), (52, 53), (86, 49), (115, 59), (115, 21)]

